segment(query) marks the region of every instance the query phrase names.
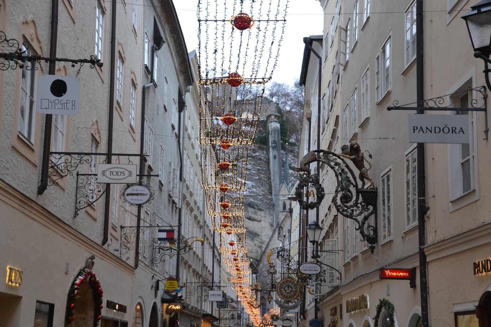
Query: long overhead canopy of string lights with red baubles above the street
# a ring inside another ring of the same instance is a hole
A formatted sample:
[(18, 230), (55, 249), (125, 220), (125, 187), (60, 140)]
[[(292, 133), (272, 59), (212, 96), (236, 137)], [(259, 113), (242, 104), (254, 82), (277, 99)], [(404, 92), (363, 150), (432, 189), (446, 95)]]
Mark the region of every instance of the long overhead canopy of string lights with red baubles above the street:
[[(244, 223), (249, 150), (276, 67), (288, 0), (198, 0), (202, 187), (232, 288), (250, 321), (253, 301)], [(225, 14), (228, 13), (228, 14)]]

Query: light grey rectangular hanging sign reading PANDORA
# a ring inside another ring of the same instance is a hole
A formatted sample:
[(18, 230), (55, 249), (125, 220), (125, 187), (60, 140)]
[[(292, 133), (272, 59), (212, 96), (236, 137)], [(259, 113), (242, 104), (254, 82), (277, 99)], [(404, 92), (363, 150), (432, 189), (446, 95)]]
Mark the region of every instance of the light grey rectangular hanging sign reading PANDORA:
[(410, 143), (469, 143), (468, 115), (409, 115)]

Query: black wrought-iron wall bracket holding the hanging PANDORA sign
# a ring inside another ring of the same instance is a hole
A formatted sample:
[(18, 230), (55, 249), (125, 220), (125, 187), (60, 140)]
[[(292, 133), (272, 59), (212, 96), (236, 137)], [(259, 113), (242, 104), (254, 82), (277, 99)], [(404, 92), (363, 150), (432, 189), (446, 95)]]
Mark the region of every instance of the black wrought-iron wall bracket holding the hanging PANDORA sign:
[[(466, 108), (466, 107), (452, 107), (452, 105), (457, 102), (460, 98), (461, 95), (464, 95), (464, 93), (469, 92), (469, 91), (474, 91), (477, 94), (480, 94), (482, 96), (481, 99), (473, 98), (470, 101), (471, 107)], [(455, 97), (455, 100), (450, 99), (450, 97)], [(446, 104), (445, 99), (450, 99), (452, 102)], [(432, 98), (432, 99), (427, 99), (423, 101), (416, 101), (412, 103), (407, 103), (403, 105), (398, 105), (399, 101), (395, 100), (392, 105), (387, 106), (387, 110), (416, 110), (418, 113), (423, 113), (425, 110), (432, 110), (432, 111), (455, 111), (457, 115), (462, 114), (464, 111), (482, 111), (484, 112), (484, 139), (488, 139), (488, 132), (489, 132), (489, 127), (488, 127), (488, 94), (486, 92), (486, 86), (479, 86), (475, 87), (472, 89), (467, 89), (464, 91), (459, 91), (459, 92), (454, 92), (451, 94), (447, 94), (444, 96)], [(482, 104), (481, 104), (482, 101)], [(420, 107), (414, 106), (420, 104)]]

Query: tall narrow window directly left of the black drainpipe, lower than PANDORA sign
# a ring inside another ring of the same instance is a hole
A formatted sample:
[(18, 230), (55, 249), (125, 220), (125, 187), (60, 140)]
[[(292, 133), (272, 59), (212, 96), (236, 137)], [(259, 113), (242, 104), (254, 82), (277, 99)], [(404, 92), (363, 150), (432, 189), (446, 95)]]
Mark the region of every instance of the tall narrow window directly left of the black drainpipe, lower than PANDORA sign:
[(406, 154), (406, 226), (409, 227), (417, 220), (417, 156), (416, 149)]

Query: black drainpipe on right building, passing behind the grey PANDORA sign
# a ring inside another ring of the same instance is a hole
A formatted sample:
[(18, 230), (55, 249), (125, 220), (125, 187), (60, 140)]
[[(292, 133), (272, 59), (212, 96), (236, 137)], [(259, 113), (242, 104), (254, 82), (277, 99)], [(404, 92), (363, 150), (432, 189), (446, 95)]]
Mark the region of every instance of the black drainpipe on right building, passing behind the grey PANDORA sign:
[[(424, 60), (423, 60), (423, 0), (416, 0), (416, 98), (417, 106), (423, 107), (424, 100)], [(424, 110), (417, 110), (418, 114), (424, 114)], [(426, 207), (425, 190), (425, 145), (418, 143), (417, 173), (418, 173), (418, 239), (419, 239), (419, 287), (421, 291), (421, 320), (423, 327), (429, 326), (428, 319), (428, 279), (426, 277), (426, 254), (423, 247), (426, 244)]]

